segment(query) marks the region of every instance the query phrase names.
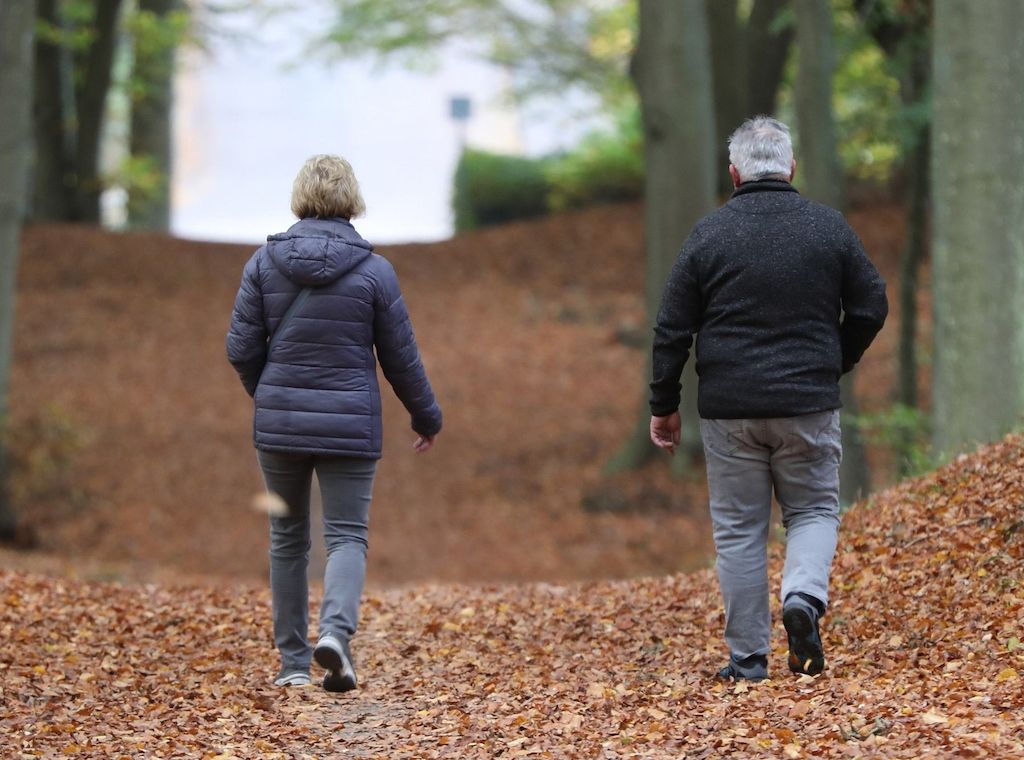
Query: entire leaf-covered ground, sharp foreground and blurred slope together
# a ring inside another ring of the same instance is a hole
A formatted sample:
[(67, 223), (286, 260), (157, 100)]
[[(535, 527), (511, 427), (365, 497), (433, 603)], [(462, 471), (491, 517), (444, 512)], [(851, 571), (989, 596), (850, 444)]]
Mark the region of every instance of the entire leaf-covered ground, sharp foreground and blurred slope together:
[[(899, 211), (851, 220), (892, 298)], [(383, 251), (446, 426), (415, 456), (386, 402), (343, 695), (270, 685), (251, 408), (223, 357), (253, 247), (29, 230), (12, 402), (36, 548), (0, 552), (0, 756), (1024, 755), (1020, 436), (847, 514), (822, 675), (788, 673), (777, 626), (771, 680), (711, 679), (702, 478), (601, 472), (644, 395), (640, 230), (623, 206)], [(866, 411), (890, 404), (898, 316), (858, 372)]]

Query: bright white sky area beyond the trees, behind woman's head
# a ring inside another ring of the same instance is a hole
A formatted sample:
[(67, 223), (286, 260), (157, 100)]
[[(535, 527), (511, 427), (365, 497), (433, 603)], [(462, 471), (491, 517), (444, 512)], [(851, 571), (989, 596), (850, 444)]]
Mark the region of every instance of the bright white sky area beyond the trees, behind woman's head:
[(468, 144), (541, 155), (595, 126), (582, 99), (527, 115), (503, 97), (508, 74), (444, 50), (430, 73), (305, 48), (323, 32), (326, 0), (267, 22), (231, 15), (210, 49), (183, 54), (175, 83), (171, 228), (200, 240), (259, 242), (294, 221), (292, 180), (311, 155), (352, 164), (367, 202), (356, 227), (374, 243), (436, 241), (453, 231), (452, 177), (462, 135), (451, 98), (468, 96)]

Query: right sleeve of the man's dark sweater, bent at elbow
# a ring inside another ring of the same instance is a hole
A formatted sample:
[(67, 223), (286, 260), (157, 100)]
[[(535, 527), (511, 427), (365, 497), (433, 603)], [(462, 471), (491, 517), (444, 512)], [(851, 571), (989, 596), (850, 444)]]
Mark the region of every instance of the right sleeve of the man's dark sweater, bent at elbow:
[(850, 372), (874, 340), (889, 314), (886, 283), (867, 258), (864, 246), (853, 229), (843, 261), (843, 372)]

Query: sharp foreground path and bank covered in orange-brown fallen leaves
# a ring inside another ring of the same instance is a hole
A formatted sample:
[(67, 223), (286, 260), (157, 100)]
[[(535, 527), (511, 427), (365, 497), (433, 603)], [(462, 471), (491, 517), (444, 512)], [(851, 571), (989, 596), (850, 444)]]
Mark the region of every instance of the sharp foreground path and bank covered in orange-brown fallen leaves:
[[(278, 689), (262, 588), (0, 572), (4, 757), (1024, 756), (1024, 439), (851, 512), (824, 674), (722, 685), (711, 572), (370, 596), (361, 687)], [(773, 560), (777, 582), (778, 557)], [(776, 609), (777, 611), (777, 609)], [(777, 618), (777, 616), (776, 616)]]

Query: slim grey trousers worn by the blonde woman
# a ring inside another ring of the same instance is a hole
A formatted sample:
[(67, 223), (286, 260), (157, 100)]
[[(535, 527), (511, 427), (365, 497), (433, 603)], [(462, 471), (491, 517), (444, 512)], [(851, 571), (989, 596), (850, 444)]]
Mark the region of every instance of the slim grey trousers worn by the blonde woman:
[(308, 670), (309, 492), (313, 470), (324, 503), (327, 568), (319, 633), (349, 638), (359, 617), (367, 569), (370, 500), (377, 460), (258, 452), (267, 491), (288, 505), (270, 518), (270, 595), (273, 642), (284, 670)]

